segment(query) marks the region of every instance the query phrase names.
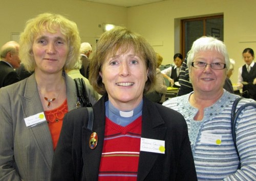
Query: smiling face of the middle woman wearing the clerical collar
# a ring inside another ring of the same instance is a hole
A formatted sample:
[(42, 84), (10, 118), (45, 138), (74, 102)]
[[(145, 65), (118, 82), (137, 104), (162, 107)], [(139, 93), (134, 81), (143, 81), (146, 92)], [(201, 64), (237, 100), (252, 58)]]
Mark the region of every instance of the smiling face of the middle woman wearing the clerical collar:
[(132, 110), (141, 102), (147, 74), (145, 60), (132, 48), (108, 55), (100, 72), (110, 102), (122, 111)]

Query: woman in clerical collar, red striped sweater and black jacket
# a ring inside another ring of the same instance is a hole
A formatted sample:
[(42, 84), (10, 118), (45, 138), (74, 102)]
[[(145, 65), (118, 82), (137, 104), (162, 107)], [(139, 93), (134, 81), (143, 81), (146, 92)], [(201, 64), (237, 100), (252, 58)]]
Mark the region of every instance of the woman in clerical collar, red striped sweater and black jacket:
[(103, 95), (93, 128), (85, 128), (86, 108), (66, 114), (51, 180), (196, 180), (184, 118), (143, 97), (156, 79), (152, 46), (117, 26), (102, 34), (90, 65), (89, 81)]

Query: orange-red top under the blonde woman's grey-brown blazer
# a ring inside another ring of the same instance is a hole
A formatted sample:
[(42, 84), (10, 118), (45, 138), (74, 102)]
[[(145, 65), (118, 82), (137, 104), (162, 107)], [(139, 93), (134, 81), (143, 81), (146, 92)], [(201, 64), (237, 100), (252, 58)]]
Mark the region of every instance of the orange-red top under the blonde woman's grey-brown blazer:
[(56, 109), (44, 111), (52, 136), (53, 149), (55, 150), (60, 137), (60, 130), (65, 114), (68, 112), (67, 99)]

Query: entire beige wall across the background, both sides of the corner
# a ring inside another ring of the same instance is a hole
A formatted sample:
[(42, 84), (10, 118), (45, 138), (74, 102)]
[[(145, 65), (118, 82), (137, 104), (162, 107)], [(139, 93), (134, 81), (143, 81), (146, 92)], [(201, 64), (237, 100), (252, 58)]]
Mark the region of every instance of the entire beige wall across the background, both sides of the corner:
[(98, 25), (127, 26), (148, 39), (164, 57), (163, 64), (169, 64), (174, 53), (180, 51), (180, 19), (223, 14), (224, 42), (230, 58), (236, 61), (232, 82), (237, 80), (237, 68), (244, 64), (243, 49), (256, 51), (255, 0), (166, 0), (132, 8), (82, 0), (1, 0), (0, 6), (0, 45), (11, 40), (11, 33), (20, 33), (26, 20), (42, 12), (54, 12), (75, 21), (82, 41), (93, 47), (103, 32)]

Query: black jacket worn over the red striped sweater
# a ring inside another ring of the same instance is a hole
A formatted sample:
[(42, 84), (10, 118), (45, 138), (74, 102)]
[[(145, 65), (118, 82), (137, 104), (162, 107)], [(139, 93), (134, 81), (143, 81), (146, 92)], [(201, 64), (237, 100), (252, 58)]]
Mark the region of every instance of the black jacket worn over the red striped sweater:
[[(104, 95), (93, 106), (93, 131), (98, 134), (98, 144), (94, 150), (89, 148), (92, 131), (86, 128), (86, 108), (66, 114), (54, 153), (52, 181), (98, 180), (107, 100), (108, 96)], [(165, 154), (140, 151), (138, 181), (197, 180), (187, 124), (180, 113), (144, 98), (142, 138), (165, 140), (166, 150)]]

